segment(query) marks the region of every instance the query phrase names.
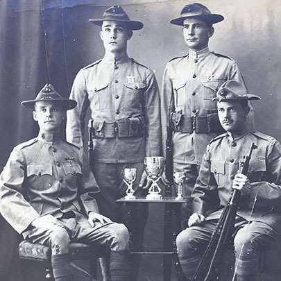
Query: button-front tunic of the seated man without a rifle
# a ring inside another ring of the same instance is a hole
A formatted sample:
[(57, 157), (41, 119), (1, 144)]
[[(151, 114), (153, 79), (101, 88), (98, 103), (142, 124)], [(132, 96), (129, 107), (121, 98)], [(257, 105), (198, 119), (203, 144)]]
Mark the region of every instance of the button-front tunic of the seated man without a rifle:
[(97, 192), (83, 150), (62, 140), (46, 142), (43, 135), (12, 151), (0, 176), (0, 212), (22, 233), (45, 214), (99, 212)]

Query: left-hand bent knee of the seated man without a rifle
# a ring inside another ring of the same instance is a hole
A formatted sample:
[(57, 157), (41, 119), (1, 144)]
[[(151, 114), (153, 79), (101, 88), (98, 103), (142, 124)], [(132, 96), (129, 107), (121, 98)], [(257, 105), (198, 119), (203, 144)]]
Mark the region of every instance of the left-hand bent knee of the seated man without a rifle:
[(49, 234), (52, 255), (62, 255), (69, 252), (70, 238), (65, 228), (56, 226)]

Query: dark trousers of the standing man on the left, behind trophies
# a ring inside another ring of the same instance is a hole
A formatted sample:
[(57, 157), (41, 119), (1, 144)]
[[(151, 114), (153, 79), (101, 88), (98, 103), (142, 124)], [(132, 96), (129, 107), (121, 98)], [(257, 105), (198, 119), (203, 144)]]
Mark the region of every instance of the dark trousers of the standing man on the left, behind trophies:
[[(112, 221), (128, 225), (128, 210), (126, 203), (117, 203), (117, 199), (126, 195), (127, 185), (124, 180), (124, 169), (135, 168), (136, 178), (133, 182), (135, 196), (146, 196), (148, 190), (139, 187), (139, 181), (144, 171), (144, 162), (136, 163), (94, 163), (92, 171), (101, 191), (98, 205), (101, 214), (108, 216)], [(144, 228), (148, 217), (148, 205), (135, 204), (133, 224), (133, 246), (142, 248), (144, 241)], [(137, 280), (140, 255), (132, 255), (130, 262), (130, 281)]]

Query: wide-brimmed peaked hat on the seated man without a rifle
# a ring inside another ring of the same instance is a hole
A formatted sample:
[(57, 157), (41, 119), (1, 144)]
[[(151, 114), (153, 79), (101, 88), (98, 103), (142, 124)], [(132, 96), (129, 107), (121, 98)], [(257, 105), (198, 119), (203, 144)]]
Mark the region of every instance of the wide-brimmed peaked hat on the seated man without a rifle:
[(22, 106), (28, 109), (34, 109), (35, 103), (38, 101), (51, 101), (60, 105), (62, 110), (71, 110), (76, 107), (77, 102), (74, 99), (63, 99), (51, 84), (44, 85), (43, 89), (37, 94), (35, 99), (22, 101)]

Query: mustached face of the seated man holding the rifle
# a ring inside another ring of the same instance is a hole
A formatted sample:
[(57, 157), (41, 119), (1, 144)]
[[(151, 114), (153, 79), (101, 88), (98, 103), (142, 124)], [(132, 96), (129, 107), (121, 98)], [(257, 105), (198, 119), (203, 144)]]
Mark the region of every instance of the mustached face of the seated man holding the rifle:
[(237, 133), (244, 128), (248, 108), (239, 101), (221, 101), (217, 103), (219, 121), (224, 130)]

